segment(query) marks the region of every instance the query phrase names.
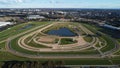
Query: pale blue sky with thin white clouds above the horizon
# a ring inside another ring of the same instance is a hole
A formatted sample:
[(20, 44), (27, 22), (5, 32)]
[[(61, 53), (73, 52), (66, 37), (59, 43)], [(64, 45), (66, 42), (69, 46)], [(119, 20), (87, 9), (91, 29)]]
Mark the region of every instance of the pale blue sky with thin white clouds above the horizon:
[(0, 0), (0, 8), (120, 8), (120, 0)]

